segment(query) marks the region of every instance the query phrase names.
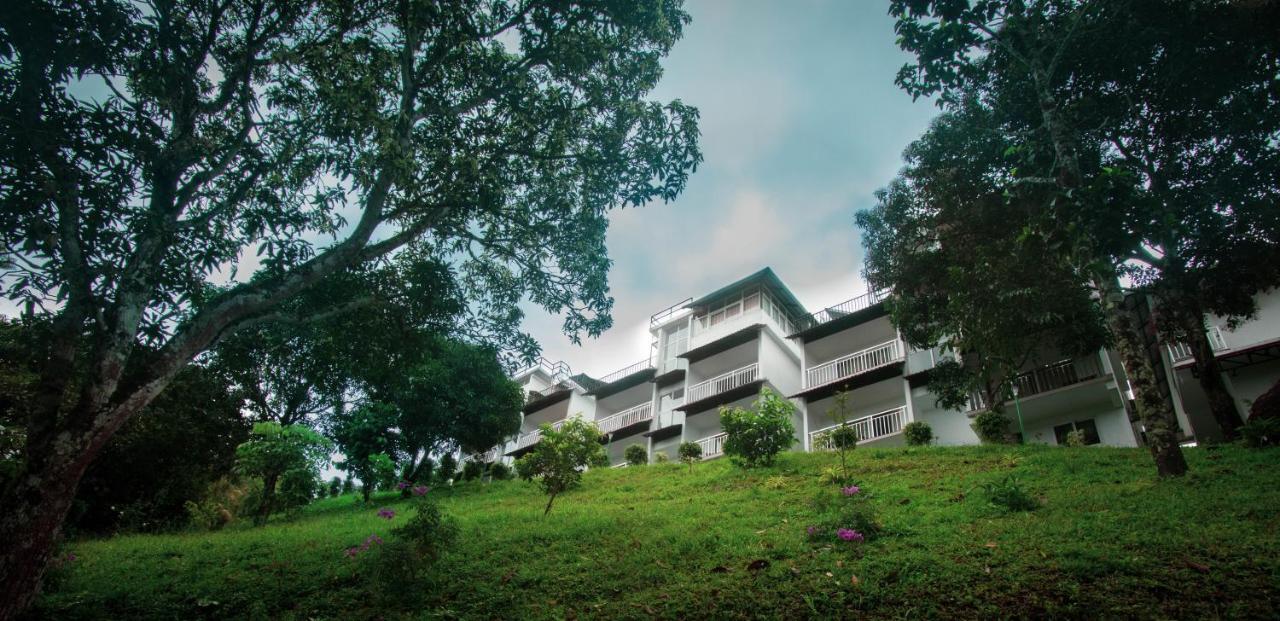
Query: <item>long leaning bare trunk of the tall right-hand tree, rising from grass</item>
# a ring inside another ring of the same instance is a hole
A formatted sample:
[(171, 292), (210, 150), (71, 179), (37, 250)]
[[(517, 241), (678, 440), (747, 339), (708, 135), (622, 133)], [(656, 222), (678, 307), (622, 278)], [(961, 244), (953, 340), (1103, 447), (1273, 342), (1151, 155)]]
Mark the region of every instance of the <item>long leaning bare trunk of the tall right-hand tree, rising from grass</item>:
[(1138, 419), (1147, 430), (1147, 447), (1156, 460), (1156, 472), (1160, 476), (1181, 476), (1187, 474), (1187, 458), (1178, 446), (1178, 416), (1156, 382), (1135, 318), (1123, 307), (1124, 293), (1115, 277), (1102, 275), (1097, 284), (1107, 325), (1116, 339), (1116, 352), (1129, 374)]

